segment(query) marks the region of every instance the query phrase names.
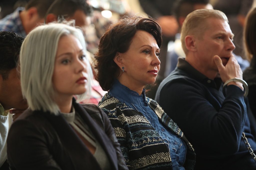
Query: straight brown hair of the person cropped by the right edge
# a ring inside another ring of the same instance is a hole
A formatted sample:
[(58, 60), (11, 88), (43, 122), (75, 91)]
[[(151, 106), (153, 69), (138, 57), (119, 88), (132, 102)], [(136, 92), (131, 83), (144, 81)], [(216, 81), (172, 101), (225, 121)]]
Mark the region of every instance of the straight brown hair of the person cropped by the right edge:
[[(244, 46), (247, 59), (251, 61), (256, 56), (256, 8), (251, 9), (246, 17), (244, 27)], [(255, 61), (255, 60), (254, 60)]]

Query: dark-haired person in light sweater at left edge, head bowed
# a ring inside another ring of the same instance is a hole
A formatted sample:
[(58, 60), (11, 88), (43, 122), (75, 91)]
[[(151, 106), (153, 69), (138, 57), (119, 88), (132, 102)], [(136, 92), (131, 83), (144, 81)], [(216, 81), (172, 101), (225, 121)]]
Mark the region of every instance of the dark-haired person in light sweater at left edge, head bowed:
[[(28, 108), (23, 98), (19, 68), (19, 51), (24, 38), (9, 31), (0, 32), (0, 169), (9, 169), (7, 163), (7, 134), (16, 117)], [(15, 109), (12, 109), (15, 108)], [(11, 109), (11, 110), (10, 110)], [(13, 115), (10, 113), (16, 113)]]

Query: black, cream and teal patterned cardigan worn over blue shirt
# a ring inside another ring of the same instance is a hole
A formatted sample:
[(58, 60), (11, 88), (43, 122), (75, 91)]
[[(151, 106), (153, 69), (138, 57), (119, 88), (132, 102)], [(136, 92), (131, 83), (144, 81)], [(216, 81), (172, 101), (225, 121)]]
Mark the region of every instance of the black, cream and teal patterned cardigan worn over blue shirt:
[[(192, 170), (195, 165), (195, 152), (191, 144), (163, 109), (154, 100), (146, 99), (158, 118), (187, 142), (188, 150), (184, 167)], [(111, 121), (129, 169), (171, 169), (168, 146), (142, 113), (129, 108), (108, 93), (103, 96), (99, 107)], [(158, 153), (159, 148), (161, 152)], [(157, 159), (161, 159), (162, 162)]]

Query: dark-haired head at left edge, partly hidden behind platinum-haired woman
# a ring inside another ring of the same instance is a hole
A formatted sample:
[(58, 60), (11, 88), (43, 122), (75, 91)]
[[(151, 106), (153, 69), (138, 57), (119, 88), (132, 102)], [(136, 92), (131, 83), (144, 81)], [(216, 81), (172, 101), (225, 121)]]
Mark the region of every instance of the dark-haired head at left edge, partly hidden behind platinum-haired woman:
[(23, 40), (14, 32), (0, 32), (0, 103), (5, 110), (28, 108), (22, 96), (17, 68)]

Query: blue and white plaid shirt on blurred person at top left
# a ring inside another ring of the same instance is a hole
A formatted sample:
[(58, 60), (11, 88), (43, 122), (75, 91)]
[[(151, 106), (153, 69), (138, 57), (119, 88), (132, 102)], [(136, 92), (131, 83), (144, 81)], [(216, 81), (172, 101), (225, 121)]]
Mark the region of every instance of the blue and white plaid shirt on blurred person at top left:
[(18, 7), (12, 14), (7, 15), (0, 20), (0, 31), (11, 31), (17, 33), (19, 36), (26, 37), (27, 34), (23, 28), (19, 17), (19, 12), (25, 8)]

